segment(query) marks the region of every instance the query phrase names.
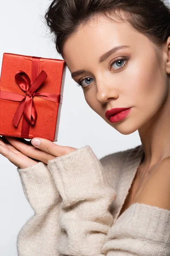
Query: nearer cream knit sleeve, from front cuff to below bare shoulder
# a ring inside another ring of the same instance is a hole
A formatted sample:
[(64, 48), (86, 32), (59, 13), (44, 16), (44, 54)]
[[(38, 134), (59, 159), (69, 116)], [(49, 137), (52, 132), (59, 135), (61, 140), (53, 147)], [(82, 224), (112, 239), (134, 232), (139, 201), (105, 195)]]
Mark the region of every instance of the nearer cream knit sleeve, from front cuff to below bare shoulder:
[(116, 192), (90, 146), (48, 161), (48, 168), (62, 196), (62, 256), (170, 255), (170, 211), (134, 204), (113, 224)]

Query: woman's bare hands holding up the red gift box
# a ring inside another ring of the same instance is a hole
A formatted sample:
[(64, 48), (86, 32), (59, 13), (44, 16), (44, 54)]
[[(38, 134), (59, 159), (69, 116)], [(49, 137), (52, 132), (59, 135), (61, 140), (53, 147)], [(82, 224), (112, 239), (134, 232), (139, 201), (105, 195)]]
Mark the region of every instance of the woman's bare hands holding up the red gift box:
[(69, 154), (77, 150), (77, 148), (57, 145), (50, 140), (38, 139), (41, 140), (41, 144), (40, 146), (34, 147), (31, 143), (33, 143), (35, 139), (32, 139), (30, 143), (21, 138), (1, 137), (0, 154), (8, 158), (15, 166), (24, 169), (29, 166), (34, 166), (40, 161), (48, 164), (48, 161), (55, 157)]

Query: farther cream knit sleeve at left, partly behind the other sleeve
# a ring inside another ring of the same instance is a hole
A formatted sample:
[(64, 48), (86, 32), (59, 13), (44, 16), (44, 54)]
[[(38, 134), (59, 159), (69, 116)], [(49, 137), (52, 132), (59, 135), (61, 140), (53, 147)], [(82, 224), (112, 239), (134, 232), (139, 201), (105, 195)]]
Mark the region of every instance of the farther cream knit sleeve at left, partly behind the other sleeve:
[(59, 256), (57, 241), (59, 206), (62, 198), (56, 190), (51, 173), (45, 163), (17, 168), (23, 191), (34, 210), (17, 236), (18, 256)]

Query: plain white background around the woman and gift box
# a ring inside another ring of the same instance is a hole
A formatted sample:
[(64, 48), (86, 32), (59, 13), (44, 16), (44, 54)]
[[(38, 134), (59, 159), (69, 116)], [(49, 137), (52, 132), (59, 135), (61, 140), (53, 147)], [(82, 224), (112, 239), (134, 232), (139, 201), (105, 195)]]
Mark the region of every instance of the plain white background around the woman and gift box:
[[(48, 0), (0, 1), (0, 68), (3, 52), (59, 58), (45, 25)], [(2, 109), (0, 111), (3, 111)], [(59, 125), (59, 145), (90, 145), (98, 158), (141, 144), (138, 131), (122, 135), (85, 102), (81, 87), (67, 68)], [(0, 255), (17, 256), (17, 234), (34, 215), (20, 182), (17, 167), (0, 154)]]

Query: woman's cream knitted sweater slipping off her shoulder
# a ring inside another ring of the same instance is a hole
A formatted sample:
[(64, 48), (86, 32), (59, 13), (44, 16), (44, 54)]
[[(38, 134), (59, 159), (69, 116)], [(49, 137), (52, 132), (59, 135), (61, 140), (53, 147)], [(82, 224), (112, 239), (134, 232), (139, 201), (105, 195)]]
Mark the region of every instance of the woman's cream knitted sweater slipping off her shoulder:
[(170, 256), (169, 210), (135, 203), (119, 216), (143, 156), (139, 145), (97, 159), (87, 145), (17, 168), (35, 212), (18, 256)]

